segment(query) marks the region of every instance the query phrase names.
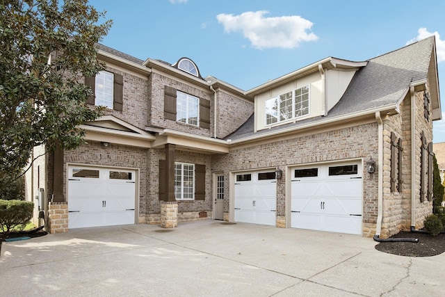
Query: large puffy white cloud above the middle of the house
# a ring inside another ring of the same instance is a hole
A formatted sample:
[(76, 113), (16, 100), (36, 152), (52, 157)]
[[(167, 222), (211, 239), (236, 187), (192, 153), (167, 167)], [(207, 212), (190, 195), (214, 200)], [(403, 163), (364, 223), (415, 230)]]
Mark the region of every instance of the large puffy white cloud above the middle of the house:
[(216, 16), (227, 33), (241, 31), (256, 49), (279, 47), (293, 49), (300, 42), (317, 40), (314, 33), (308, 33), (313, 23), (298, 15), (264, 17), (268, 11), (248, 11), (241, 15), (221, 13)]

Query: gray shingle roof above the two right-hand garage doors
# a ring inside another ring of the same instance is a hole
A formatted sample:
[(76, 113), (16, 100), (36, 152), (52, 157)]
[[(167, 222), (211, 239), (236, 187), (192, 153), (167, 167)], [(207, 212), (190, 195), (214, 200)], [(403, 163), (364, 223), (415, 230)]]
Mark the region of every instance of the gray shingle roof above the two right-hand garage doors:
[(368, 65), (356, 72), (346, 92), (325, 117), (309, 118), (257, 132), (254, 132), (254, 121), (250, 119), (226, 138), (237, 140), (259, 136), (318, 122), (326, 118), (341, 117), (359, 111), (397, 104), (405, 97), (412, 81), (427, 78), (434, 42), (432, 36), (382, 56), (371, 58)]

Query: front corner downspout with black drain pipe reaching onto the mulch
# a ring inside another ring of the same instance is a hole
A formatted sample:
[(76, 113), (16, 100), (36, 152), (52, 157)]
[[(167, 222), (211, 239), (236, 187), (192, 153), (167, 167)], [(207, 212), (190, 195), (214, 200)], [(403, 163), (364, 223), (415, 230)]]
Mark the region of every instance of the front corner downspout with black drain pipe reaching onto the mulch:
[(391, 238), (380, 239), (380, 232), (382, 232), (383, 220), (383, 120), (380, 112), (375, 113), (375, 120), (378, 123), (378, 214), (377, 226), (375, 227), (374, 241), (378, 242), (412, 242), (418, 243), (419, 239), (413, 238)]

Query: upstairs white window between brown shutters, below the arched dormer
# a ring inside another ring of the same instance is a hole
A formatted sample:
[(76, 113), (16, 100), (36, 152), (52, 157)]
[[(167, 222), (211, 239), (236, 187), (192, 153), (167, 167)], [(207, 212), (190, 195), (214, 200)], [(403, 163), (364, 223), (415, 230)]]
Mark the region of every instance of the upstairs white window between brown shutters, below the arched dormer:
[(198, 125), (200, 98), (177, 92), (176, 120), (186, 124)]

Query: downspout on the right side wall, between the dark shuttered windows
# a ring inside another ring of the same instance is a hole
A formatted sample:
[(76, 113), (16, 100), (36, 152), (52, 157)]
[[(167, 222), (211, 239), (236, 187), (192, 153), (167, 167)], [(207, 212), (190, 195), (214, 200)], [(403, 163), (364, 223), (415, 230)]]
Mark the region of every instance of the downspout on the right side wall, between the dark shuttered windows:
[(416, 228), (416, 98), (414, 86), (411, 95), (411, 227)]

